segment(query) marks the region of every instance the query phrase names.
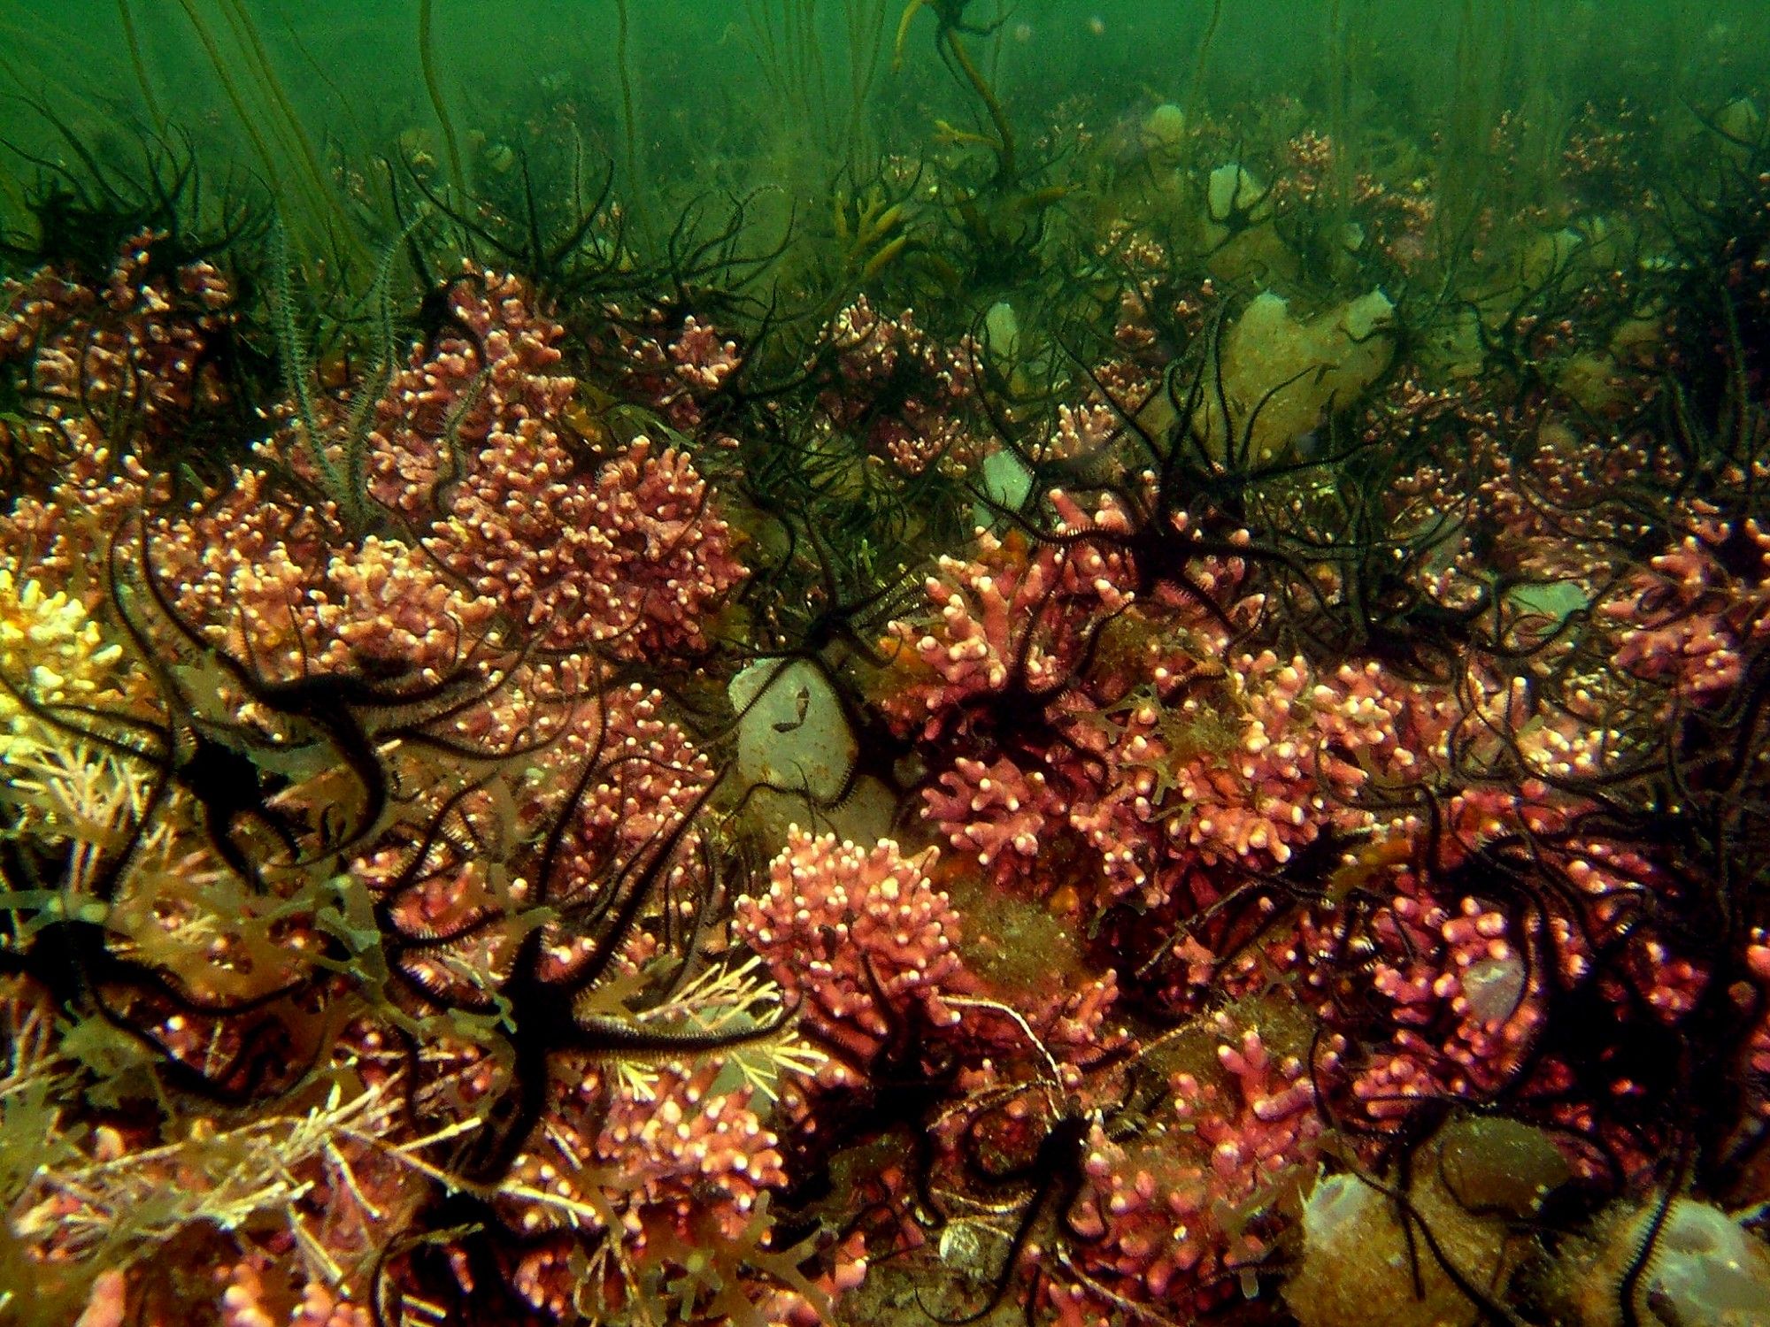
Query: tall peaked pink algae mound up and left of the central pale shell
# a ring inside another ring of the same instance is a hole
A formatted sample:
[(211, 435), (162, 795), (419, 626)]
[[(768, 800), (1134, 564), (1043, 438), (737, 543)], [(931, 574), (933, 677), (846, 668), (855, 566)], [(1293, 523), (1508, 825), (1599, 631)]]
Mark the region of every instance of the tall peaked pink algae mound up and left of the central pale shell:
[(588, 467), (559, 432), (577, 387), (550, 372), (563, 327), (492, 274), (458, 281), (451, 310), (474, 341), (444, 336), (395, 375), (368, 492), (547, 648), (703, 648), (701, 616), (743, 568), (689, 456), (637, 439)]

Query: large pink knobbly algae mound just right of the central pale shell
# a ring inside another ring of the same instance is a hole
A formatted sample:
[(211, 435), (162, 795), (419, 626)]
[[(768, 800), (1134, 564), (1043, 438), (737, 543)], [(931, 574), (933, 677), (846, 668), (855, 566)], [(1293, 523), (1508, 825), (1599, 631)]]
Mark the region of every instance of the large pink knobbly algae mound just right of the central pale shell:
[[(1366, 826), (1358, 791), (1409, 759), (1405, 688), (1375, 664), (1322, 678), (1273, 651), (1225, 667), (1220, 623), (1166, 593), (1136, 605), (1127, 556), (1087, 538), (1126, 531), (1115, 506), (1089, 515), (1057, 494), (1053, 510), (1066, 543), (984, 534), (975, 561), (929, 580), (938, 617), (892, 628), (915, 662), (885, 711), (935, 750), (998, 752), (954, 756), (924, 793), (949, 842), (1009, 881), (1069, 830), (1110, 895), (1204, 904), (1211, 867), (1281, 867), (1328, 826)], [(1197, 570), (1228, 593), (1237, 575)]]

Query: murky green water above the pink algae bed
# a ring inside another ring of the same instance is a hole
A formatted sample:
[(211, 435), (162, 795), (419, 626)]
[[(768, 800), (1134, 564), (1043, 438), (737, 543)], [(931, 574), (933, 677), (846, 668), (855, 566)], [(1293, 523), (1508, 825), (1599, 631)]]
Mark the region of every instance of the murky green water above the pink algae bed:
[[(963, 11), (989, 30), (966, 42), (1028, 136), (1071, 119), (1122, 133), (1175, 103), (1195, 117), (1331, 126), (1352, 149), (1349, 172), (1391, 166), (1397, 140), (1412, 140), (1421, 170), (1480, 173), (1467, 157), (1510, 113), (1529, 120), (1522, 166), (1545, 175), (1588, 103), (1627, 101), (1676, 138), (1699, 108), (1749, 94), (1770, 58), (1770, 12), (1749, 0)], [(101, 154), (143, 133), (188, 134), (212, 177), (237, 166), (290, 216), (365, 228), (391, 223), (379, 157), (496, 186), (512, 154), (566, 138), (586, 168), (612, 163), (635, 207), (669, 212), (713, 189), (811, 203), (843, 170), (922, 154), (940, 119), (984, 119), (936, 57), (933, 7), (894, 60), (901, 16), (885, 0), (9, 0), (0, 124), (14, 147), (64, 163), (76, 154), (51, 117)], [(32, 170), (16, 154), (0, 161), (14, 209)]]

